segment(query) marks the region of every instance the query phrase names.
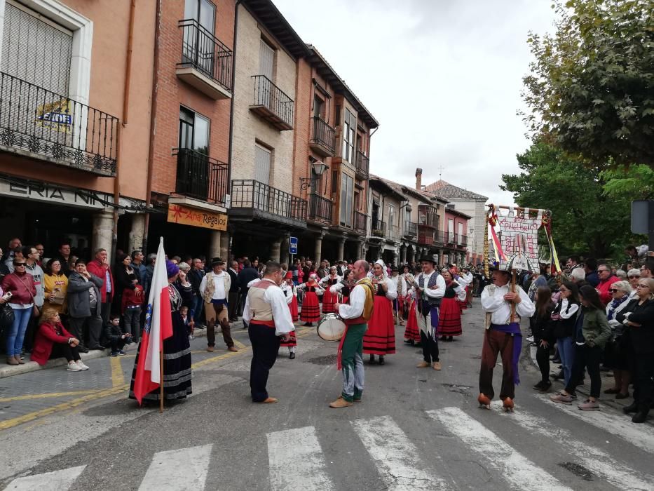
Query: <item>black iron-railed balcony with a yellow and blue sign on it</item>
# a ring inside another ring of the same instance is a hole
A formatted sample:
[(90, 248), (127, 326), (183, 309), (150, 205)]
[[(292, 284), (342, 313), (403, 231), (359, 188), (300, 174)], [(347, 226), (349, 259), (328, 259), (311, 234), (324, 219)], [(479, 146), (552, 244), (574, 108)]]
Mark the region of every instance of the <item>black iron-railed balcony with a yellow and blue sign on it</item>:
[(118, 118), (0, 73), (0, 150), (116, 175)]

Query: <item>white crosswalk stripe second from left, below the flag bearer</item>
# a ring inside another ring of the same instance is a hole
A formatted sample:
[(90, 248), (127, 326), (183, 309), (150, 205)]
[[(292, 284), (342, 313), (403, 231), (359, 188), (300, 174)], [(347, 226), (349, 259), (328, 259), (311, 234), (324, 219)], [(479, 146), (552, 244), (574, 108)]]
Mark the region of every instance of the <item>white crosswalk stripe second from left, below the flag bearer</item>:
[(212, 446), (156, 452), (139, 490), (204, 490)]

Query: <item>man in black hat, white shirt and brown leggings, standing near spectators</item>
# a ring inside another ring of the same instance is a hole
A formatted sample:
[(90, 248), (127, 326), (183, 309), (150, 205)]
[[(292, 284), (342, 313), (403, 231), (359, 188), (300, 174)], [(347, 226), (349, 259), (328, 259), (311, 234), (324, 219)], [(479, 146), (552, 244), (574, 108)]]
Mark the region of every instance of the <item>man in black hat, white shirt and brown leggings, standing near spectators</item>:
[(224, 264), (225, 262), (219, 257), (214, 257), (211, 260), (212, 271), (205, 274), (200, 283), (200, 293), (205, 301), (205, 318), (207, 319), (207, 351), (210, 353), (214, 351), (216, 344), (216, 333), (214, 332), (216, 321), (220, 323), (227, 349), (238, 351), (231, 339), (231, 328), (227, 315), (227, 295), (231, 287), (231, 278), (223, 271)]

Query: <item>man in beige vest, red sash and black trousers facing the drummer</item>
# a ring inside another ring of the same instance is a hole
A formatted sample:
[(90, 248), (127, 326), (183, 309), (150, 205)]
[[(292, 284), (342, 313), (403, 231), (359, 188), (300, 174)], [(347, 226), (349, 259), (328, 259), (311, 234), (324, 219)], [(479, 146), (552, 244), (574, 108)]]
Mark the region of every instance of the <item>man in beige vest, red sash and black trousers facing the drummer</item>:
[(252, 343), (250, 391), (254, 403), (276, 403), (268, 396), (268, 374), (275, 364), (282, 342), (289, 342), (295, 330), (282, 283), (282, 267), (278, 262), (266, 263), (264, 278), (247, 292), (243, 322)]

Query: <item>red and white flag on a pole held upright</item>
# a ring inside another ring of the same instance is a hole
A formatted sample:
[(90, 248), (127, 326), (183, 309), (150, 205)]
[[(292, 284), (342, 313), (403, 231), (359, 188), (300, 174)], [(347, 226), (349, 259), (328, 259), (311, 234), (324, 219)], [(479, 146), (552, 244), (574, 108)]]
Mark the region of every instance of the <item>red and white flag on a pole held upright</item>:
[(159, 239), (154, 274), (150, 287), (145, 326), (136, 365), (134, 396), (139, 404), (143, 397), (158, 389), (161, 384), (160, 356), (163, 356), (163, 339), (172, 336), (172, 315), (168, 295), (168, 274), (166, 274), (163, 237)]

